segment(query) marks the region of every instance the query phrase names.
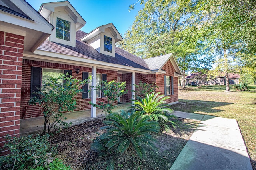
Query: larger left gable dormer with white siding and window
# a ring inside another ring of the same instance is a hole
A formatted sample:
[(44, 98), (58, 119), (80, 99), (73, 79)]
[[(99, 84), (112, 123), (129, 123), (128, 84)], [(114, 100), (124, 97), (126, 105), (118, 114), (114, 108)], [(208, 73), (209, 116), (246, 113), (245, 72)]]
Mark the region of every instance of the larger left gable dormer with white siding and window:
[(86, 21), (70, 2), (44, 3), (40, 6), (39, 12), (55, 27), (49, 37), (50, 41), (72, 47), (76, 46), (76, 31), (82, 28)]

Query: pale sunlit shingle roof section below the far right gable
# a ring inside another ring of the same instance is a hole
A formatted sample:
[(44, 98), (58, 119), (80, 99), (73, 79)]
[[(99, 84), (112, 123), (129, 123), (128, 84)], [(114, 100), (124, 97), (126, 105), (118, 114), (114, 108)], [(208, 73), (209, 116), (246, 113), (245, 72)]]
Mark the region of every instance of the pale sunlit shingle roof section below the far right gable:
[(144, 61), (146, 62), (150, 70), (159, 70), (166, 63), (171, 55), (172, 54), (160, 55), (157, 57), (144, 59)]

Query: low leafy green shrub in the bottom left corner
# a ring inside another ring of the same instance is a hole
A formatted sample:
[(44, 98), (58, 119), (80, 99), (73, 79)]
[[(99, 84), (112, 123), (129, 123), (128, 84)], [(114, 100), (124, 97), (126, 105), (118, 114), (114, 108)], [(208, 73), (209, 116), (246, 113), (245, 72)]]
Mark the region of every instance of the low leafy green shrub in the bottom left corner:
[(9, 141), (4, 146), (10, 150), (10, 154), (0, 157), (4, 169), (24, 170), (42, 166), (50, 162), (56, 154), (56, 147), (51, 146), (48, 134), (36, 137), (6, 136), (6, 139)]

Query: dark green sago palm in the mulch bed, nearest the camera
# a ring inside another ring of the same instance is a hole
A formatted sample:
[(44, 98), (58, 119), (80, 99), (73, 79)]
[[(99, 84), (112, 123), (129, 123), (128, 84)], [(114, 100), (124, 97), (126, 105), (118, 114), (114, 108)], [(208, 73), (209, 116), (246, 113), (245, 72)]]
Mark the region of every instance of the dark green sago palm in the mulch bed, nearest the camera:
[(154, 146), (150, 133), (159, 132), (158, 122), (149, 120), (148, 116), (142, 117), (140, 112), (134, 111), (107, 115), (104, 121), (106, 126), (101, 128), (107, 132), (94, 140), (91, 149), (99, 152), (100, 156), (120, 156), (124, 152), (129, 154), (128, 151), (135, 151), (142, 159), (145, 145)]

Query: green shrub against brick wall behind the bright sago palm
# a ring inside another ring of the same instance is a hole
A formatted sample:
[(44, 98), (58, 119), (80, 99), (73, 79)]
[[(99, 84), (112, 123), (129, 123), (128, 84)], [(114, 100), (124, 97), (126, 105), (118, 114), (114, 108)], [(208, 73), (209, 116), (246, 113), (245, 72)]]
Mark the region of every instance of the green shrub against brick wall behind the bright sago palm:
[(156, 88), (159, 88), (156, 86), (156, 83), (142, 83), (142, 81), (139, 82), (139, 84), (134, 84), (135, 86), (135, 98), (141, 97), (143, 98), (145, 94), (150, 94), (156, 90)]

